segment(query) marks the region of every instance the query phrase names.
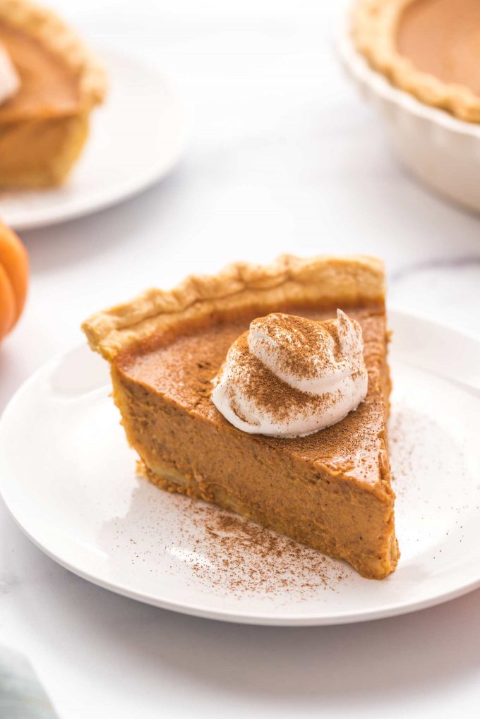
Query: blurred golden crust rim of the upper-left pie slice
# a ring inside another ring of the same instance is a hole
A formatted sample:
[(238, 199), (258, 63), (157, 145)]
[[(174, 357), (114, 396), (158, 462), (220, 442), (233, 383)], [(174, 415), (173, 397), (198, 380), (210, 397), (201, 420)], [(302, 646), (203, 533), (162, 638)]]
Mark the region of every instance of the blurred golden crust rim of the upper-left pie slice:
[(53, 12), (30, 0), (1, 0), (0, 20), (37, 38), (50, 52), (60, 55), (79, 78), (80, 112), (101, 103), (107, 90), (104, 70), (83, 41)]

